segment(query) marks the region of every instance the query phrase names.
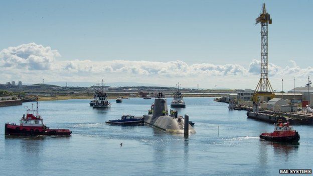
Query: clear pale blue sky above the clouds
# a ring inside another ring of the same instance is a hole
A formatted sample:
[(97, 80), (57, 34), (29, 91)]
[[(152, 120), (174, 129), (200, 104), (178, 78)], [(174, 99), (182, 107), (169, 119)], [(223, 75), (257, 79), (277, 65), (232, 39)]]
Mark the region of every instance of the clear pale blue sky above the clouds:
[(313, 1), (2, 1), (0, 50), (36, 43), (57, 50), (60, 62), (179, 60), (249, 69), (260, 58), (254, 22), (263, 2), (273, 19), (269, 62), (310, 66)]

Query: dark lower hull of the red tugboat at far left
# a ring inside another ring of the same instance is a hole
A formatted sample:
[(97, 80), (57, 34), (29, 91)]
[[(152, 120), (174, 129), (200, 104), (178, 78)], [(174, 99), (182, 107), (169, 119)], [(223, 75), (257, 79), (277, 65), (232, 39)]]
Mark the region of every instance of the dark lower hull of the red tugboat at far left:
[(36, 136), (36, 135), (71, 135), (72, 131), (68, 129), (43, 129), (42, 127), (24, 127), (6, 123), (5, 135), (15, 136)]

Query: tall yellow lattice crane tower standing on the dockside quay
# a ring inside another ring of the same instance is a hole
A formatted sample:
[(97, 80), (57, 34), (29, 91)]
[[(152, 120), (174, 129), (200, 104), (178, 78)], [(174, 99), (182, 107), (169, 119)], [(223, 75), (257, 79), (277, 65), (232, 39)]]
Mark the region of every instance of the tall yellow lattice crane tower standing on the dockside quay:
[(268, 24), (272, 24), (272, 19), (266, 12), (265, 4), (263, 4), (260, 16), (255, 19), (255, 22), (255, 25), (261, 24), (261, 78), (255, 89), (254, 102), (259, 96), (274, 97), (273, 88), (268, 80)]

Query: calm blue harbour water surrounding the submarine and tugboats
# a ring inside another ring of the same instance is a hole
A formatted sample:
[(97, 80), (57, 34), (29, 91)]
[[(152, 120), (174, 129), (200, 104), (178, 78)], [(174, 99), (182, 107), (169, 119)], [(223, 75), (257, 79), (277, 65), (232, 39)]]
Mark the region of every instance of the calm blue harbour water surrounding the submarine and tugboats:
[[(168, 98), (168, 102), (172, 99)], [(92, 109), (89, 100), (40, 102), (50, 128), (69, 128), (71, 137), (6, 138), (5, 123), (18, 123), (24, 106), (0, 108), (1, 175), (278, 175), (278, 169), (311, 169), (313, 126), (295, 126), (299, 145), (260, 141), (273, 125), (228, 111), (213, 98), (185, 98), (196, 134), (159, 132), (148, 126), (110, 126), (122, 114), (147, 113), (154, 100), (112, 101), (108, 110)], [(170, 107), (169, 107), (170, 108)], [(120, 148), (119, 143), (123, 143)]]

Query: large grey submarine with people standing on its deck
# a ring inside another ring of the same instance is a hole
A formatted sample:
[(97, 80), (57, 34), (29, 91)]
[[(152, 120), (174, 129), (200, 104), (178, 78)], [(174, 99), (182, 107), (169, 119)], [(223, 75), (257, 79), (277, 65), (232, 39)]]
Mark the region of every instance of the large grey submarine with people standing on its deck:
[[(151, 108), (151, 114), (143, 115), (144, 122), (149, 126), (169, 133), (184, 134), (185, 119), (183, 117), (172, 117), (164, 115), (168, 112), (167, 100), (159, 93), (154, 100), (154, 106)], [(196, 133), (196, 130), (189, 125), (189, 133)]]

